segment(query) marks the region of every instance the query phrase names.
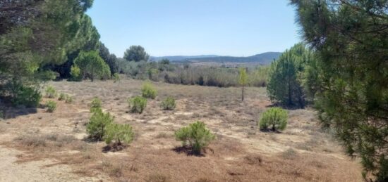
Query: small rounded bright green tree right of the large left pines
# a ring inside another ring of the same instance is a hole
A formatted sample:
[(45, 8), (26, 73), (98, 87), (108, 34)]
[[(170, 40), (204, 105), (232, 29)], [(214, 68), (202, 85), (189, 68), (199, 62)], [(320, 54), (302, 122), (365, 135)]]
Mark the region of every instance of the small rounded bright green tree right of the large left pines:
[(109, 66), (99, 57), (97, 51), (81, 51), (75, 58), (74, 64), (80, 67), (82, 77), (90, 78), (92, 82), (94, 79), (109, 79), (111, 77)]

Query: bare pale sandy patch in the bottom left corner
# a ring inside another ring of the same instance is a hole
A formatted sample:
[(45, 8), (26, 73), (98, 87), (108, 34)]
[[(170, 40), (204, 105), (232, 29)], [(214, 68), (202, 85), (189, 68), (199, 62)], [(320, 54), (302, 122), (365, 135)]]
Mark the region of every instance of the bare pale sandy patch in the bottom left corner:
[(102, 181), (97, 178), (81, 177), (73, 174), (67, 165), (53, 164), (52, 160), (17, 163), (17, 155), (22, 152), (0, 145), (0, 181)]

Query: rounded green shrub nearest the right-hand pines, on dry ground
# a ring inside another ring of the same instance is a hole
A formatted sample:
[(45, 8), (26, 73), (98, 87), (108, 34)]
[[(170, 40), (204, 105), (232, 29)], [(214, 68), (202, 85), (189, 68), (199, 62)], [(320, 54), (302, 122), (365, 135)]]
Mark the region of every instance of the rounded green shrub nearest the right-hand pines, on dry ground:
[(270, 108), (262, 113), (259, 126), (260, 129), (267, 131), (284, 130), (287, 126), (287, 112), (281, 108)]

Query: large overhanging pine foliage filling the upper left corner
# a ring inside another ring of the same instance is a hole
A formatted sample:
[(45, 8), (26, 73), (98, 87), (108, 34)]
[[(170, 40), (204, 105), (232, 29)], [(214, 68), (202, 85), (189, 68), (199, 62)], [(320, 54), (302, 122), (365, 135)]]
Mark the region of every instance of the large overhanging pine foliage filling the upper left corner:
[(67, 53), (80, 48), (78, 43), (84, 38), (81, 19), (91, 5), (92, 0), (1, 1), (2, 96), (10, 96), (16, 104), (24, 102), (23, 98), (32, 98), (27, 99), (31, 101), (28, 105), (39, 102), (32, 88), (47, 81), (44, 74), (53, 78), (54, 74), (44, 71), (45, 65), (61, 64)]

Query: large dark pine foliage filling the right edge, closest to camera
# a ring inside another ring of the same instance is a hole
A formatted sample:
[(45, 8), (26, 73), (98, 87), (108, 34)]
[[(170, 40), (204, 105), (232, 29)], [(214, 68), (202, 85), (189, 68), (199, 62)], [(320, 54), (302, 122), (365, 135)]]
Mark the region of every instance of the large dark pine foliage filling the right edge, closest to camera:
[[(387, 1), (291, 1), (318, 60), (306, 74), (322, 126), (364, 176), (388, 181)], [(374, 177), (373, 177), (374, 176)]]

